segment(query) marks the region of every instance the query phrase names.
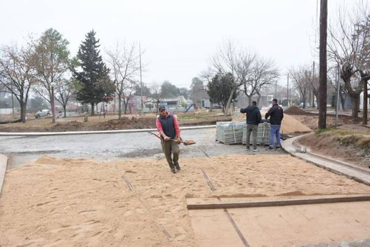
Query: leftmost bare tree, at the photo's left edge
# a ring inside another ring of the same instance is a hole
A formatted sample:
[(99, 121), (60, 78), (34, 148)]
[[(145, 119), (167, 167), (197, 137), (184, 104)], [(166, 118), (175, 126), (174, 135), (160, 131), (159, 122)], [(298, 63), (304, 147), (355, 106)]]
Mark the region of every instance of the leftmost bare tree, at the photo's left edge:
[(26, 123), (29, 92), (36, 82), (35, 51), (31, 46), (2, 46), (0, 52), (0, 85), (18, 100)]

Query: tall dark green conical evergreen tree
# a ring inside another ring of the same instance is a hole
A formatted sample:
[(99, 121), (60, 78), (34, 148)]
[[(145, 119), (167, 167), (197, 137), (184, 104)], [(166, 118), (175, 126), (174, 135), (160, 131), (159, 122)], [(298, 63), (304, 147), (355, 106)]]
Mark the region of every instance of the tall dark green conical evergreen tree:
[(108, 102), (115, 89), (109, 77), (110, 70), (99, 54), (100, 44), (95, 39), (95, 34), (92, 30), (87, 33), (85, 41), (82, 41), (77, 53), (81, 70), (73, 72), (80, 84), (76, 93), (77, 100), (91, 105), (91, 116), (94, 116), (94, 105), (102, 101)]

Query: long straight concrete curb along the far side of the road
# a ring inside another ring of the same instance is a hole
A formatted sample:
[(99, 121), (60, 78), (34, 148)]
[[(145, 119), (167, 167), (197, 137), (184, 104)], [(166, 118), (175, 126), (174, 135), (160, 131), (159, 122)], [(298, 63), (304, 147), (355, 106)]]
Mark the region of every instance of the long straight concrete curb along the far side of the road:
[[(188, 126), (180, 127), (181, 130), (216, 128), (216, 125)], [(100, 131), (66, 131), (66, 132), (0, 132), (0, 136), (45, 136), (45, 135), (86, 135), (86, 134), (118, 134), (157, 131), (156, 128), (143, 129), (117, 129)]]

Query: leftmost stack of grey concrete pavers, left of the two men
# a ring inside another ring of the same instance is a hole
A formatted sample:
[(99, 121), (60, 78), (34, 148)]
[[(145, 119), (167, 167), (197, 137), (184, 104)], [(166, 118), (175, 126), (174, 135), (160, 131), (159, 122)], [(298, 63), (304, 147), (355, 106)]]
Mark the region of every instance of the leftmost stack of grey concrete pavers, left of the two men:
[(216, 141), (224, 144), (241, 144), (245, 121), (241, 122), (217, 122)]

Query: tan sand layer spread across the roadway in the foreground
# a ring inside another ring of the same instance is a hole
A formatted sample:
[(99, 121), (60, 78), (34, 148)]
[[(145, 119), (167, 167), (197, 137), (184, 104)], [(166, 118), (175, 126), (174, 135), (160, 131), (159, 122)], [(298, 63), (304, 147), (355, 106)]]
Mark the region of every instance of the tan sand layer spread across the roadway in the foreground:
[(181, 159), (181, 165), (171, 174), (165, 160), (42, 157), (8, 170), (0, 246), (198, 246), (186, 198), (370, 193), (368, 186), (289, 155)]

